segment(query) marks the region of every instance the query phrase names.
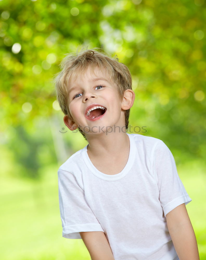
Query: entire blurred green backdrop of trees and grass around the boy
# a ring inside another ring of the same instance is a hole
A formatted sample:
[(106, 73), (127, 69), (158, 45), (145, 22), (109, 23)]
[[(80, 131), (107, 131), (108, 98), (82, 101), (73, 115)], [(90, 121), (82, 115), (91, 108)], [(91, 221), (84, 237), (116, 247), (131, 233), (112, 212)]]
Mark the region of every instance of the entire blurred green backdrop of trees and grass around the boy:
[(62, 237), (57, 170), (87, 142), (64, 125), (53, 83), (65, 54), (83, 46), (103, 48), (130, 69), (130, 125), (170, 148), (206, 259), (205, 7), (204, 0), (0, 1), (1, 259), (90, 259), (81, 239)]

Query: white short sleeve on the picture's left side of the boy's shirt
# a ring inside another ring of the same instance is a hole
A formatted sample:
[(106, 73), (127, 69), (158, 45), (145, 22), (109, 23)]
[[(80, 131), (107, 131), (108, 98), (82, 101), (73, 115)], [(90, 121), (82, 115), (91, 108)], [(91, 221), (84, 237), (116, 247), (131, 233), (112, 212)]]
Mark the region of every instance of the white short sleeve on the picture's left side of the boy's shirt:
[(84, 191), (75, 176), (58, 170), (59, 207), (62, 220), (62, 236), (81, 239), (79, 232), (102, 231), (100, 223), (89, 207)]

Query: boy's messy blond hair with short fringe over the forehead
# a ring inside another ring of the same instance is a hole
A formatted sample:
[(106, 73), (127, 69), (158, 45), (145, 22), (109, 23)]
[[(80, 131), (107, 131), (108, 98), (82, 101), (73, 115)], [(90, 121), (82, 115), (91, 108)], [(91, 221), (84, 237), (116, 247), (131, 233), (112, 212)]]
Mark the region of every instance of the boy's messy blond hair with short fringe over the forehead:
[[(109, 57), (102, 49), (86, 49), (76, 54), (67, 55), (61, 62), (60, 73), (55, 78), (56, 98), (65, 115), (72, 119), (68, 106), (68, 82), (74, 75), (83, 74), (88, 66), (94, 71), (96, 67), (107, 72), (110, 80), (117, 85), (120, 99), (123, 99), (126, 89), (132, 89), (132, 77), (126, 65), (119, 59)], [(130, 109), (125, 110), (125, 127), (128, 129)], [(78, 128), (86, 139), (83, 131)], [(86, 139), (87, 140), (87, 139)]]

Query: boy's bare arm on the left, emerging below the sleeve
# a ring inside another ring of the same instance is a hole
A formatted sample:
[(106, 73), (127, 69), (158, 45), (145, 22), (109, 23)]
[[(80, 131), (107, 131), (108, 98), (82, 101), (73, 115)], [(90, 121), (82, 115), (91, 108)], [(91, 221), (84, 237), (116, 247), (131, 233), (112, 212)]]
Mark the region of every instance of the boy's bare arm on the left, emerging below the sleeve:
[(92, 260), (114, 260), (112, 250), (101, 231), (79, 232)]

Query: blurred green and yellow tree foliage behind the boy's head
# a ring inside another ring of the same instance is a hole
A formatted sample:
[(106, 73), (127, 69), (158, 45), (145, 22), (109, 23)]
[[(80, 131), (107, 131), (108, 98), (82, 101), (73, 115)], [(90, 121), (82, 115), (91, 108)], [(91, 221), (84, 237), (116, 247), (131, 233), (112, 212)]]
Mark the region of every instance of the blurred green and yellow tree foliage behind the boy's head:
[[(146, 135), (171, 149), (205, 157), (204, 0), (2, 0), (0, 13), (2, 131), (23, 125), (30, 134), (28, 122), (59, 113), (52, 78), (64, 54), (103, 47), (132, 73), (131, 124), (147, 126)], [(25, 167), (38, 167), (26, 157)]]

